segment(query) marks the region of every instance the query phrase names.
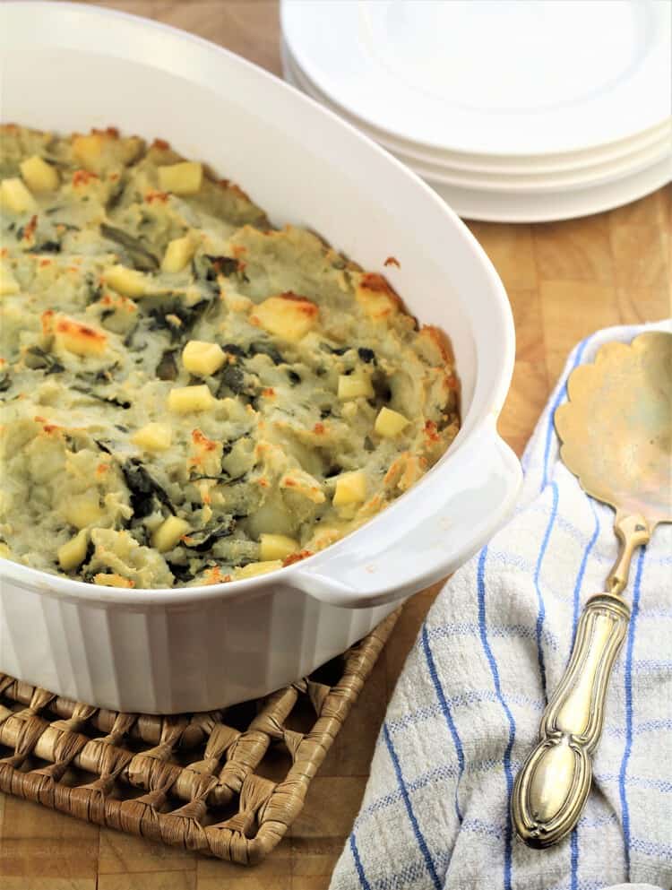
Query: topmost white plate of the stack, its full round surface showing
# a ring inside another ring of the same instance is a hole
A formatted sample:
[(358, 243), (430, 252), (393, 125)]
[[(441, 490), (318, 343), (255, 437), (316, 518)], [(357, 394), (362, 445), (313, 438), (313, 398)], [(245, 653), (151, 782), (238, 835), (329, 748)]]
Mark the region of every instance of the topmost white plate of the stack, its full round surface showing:
[(660, 0), (282, 0), (301, 69), (401, 140), (495, 156), (590, 151), (672, 103)]

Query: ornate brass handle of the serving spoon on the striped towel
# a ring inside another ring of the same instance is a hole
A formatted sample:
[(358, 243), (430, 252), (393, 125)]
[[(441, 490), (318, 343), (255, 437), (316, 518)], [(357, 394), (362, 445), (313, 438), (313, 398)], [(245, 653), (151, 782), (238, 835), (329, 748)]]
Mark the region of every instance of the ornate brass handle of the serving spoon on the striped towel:
[(513, 786), (513, 824), (532, 847), (556, 843), (581, 816), (607, 685), (629, 618), (630, 609), (614, 593), (591, 597), (583, 609), (572, 658), (541, 720), (538, 745)]

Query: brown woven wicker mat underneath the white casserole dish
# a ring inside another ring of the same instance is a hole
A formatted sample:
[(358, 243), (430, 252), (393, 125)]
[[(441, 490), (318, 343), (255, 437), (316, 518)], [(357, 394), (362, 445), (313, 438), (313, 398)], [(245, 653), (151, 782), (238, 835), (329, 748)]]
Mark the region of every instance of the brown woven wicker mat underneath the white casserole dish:
[(254, 865), (280, 842), (398, 612), (309, 678), (223, 711), (106, 711), (0, 674), (0, 791)]

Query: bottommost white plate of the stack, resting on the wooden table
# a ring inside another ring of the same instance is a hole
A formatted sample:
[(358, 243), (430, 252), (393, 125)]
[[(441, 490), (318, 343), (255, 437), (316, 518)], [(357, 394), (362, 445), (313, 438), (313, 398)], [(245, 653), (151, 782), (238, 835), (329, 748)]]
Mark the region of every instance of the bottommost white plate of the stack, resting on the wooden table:
[(620, 207), (655, 192), (670, 180), (672, 160), (667, 157), (639, 173), (615, 182), (575, 191), (560, 189), (550, 193), (524, 194), (445, 186), (431, 179), (426, 179), (426, 182), (465, 220), (551, 222), (590, 216), (591, 213)]

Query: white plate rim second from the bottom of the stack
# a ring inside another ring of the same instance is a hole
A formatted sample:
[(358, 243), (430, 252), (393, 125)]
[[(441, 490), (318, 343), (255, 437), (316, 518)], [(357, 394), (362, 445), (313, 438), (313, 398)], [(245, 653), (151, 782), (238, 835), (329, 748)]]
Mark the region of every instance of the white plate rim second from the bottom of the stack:
[(538, 172), (537, 168), (532, 164), (524, 165), (524, 172), (522, 170), (523, 165), (521, 165), (521, 172), (517, 173), (510, 171), (493, 173), (490, 171), (464, 170), (458, 166), (453, 166), (450, 161), (438, 163), (435, 160), (427, 159), (426, 156), (419, 155), (417, 152), (406, 151), (401, 147), (397, 147), (396, 143), (391, 143), (389, 140), (374, 133), (364, 122), (359, 122), (349, 117), (347, 113), (330, 102), (326, 96), (320, 93), (308, 81), (291, 58), (287, 47), (283, 47), (282, 61), (283, 73), (287, 82), (305, 92), (306, 95), (322, 102), (324, 106), (331, 108), (332, 111), (340, 114), (341, 117), (345, 117), (353, 125), (358, 126), (363, 132), (380, 143), (383, 148), (391, 151), (402, 163), (407, 164), (418, 173), (418, 176), (431, 179), (446, 186), (476, 189), (495, 188), (501, 191), (515, 192), (543, 192), (559, 188), (585, 188), (637, 173), (657, 163), (659, 160), (663, 160), (666, 155), (672, 152), (671, 121), (655, 128), (655, 131), (653, 131), (655, 138), (651, 139), (650, 136), (647, 136), (643, 144), (635, 146), (635, 148), (629, 148), (628, 151), (621, 150), (617, 153), (612, 151), (611, 158), (597, 160), (591, 164), (582, 164), (578, 167), (569, 167), (546, 173)]

